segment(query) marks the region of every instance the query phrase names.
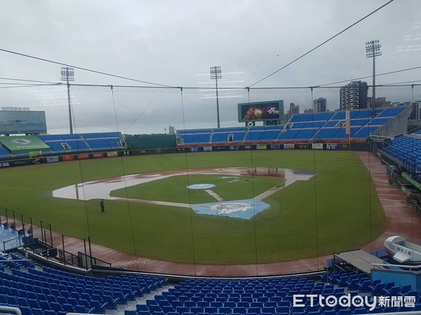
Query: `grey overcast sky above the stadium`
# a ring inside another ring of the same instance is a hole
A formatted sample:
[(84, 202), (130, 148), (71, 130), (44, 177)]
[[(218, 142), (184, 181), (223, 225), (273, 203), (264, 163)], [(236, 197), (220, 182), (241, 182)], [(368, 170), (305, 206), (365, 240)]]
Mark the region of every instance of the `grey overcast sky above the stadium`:
[[(16, 1), (1, 2), (0, 48), (62, 64), (112, 73), (156, 85), (75, 69), (71, 86), (74, 131), (163, 133), (216, 127), (210, 66), (221, 66), (221, 127), (240, 126), (237, 104), (283, 99), (300, 111), (326, 97), (339, 108), (338, 86), (370, 76), (366, 41), (379, 39), (376, 73), (421, 66), (421, 1), (395, 0), (297, 62), (262, 80), (388, 0)], [(60, 82), (60, 64), (0, 51), (0, 106), (45, 111), (48, 132), (68, 133), (67, 90), (16, 87), (10, 78)], [(421, 69), (378, 76), (377, 85), (421, 80)], [(5, 79), (9, 78), (9, 79)], [(262, 80), (260, 83), (258, 81)], [(255, 89), (309, 87), (330, 89)], [(371, 78), (364, 79), (368, 85)], [(8, 84), (4, 84), (8, 83)], [(256, 83), (256, 84), (255, 84)], [(180, 89), (161, 85), (184, 87)], [(250, 92), (244, 87), (252, 87)], [(4, 88), (7, 87), (7, 88)], [(154, 87), (154, 88), (152, 88)], [(156, 88), (159, 87), (159, 88)], [(369, 95), (371, 89), (368, 91)], [(378, 87), (392, 102), (421, 100), (421, 87)]]

